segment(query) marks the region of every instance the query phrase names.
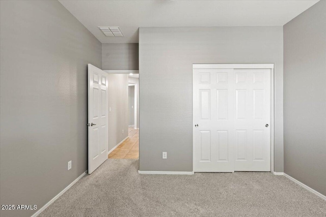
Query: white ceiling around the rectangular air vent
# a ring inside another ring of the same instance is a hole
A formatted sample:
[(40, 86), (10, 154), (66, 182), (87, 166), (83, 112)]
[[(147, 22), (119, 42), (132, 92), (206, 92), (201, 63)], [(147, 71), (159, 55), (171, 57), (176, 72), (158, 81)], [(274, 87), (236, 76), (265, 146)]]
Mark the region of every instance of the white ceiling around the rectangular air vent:
[[(138, 43), (150, 26), (284, 25), (318, 1), (65, 1), (59, 2), (101, 43)], [(98, 26), (119, 26), (124, 37), (105, 37)]]

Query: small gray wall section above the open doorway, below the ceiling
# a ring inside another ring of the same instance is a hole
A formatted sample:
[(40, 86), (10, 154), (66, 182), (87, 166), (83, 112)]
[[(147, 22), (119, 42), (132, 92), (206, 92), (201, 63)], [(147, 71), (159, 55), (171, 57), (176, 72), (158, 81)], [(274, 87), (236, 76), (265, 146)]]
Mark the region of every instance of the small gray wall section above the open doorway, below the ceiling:
[(102, 44), (103, 70), (138, 70), (138, 44)]

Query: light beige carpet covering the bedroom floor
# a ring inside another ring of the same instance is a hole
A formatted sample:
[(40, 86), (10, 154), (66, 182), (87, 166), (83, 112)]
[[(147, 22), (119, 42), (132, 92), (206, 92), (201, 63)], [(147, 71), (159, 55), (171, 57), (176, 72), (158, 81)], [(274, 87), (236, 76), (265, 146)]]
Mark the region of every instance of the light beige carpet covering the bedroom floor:
[(140, 175), (108, 159), (39, 216), (326, 216), (326, 201), (269, 172)]

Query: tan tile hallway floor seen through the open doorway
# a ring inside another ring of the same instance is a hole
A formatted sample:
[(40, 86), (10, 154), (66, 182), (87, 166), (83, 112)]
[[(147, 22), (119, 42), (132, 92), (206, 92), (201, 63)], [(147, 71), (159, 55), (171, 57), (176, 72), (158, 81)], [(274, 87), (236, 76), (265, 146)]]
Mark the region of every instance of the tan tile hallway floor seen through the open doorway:
[(139, 129), (128, 128), (128, 138), (108, 154), (109, 159), (139, 158)]

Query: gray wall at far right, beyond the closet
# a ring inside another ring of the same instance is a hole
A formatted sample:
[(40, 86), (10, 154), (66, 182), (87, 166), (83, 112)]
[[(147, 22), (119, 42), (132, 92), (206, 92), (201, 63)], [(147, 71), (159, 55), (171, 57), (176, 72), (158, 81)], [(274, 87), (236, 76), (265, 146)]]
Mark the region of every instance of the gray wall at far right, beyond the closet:
[(326, 195), (326, 1), (283, 30), (284, 172)]

